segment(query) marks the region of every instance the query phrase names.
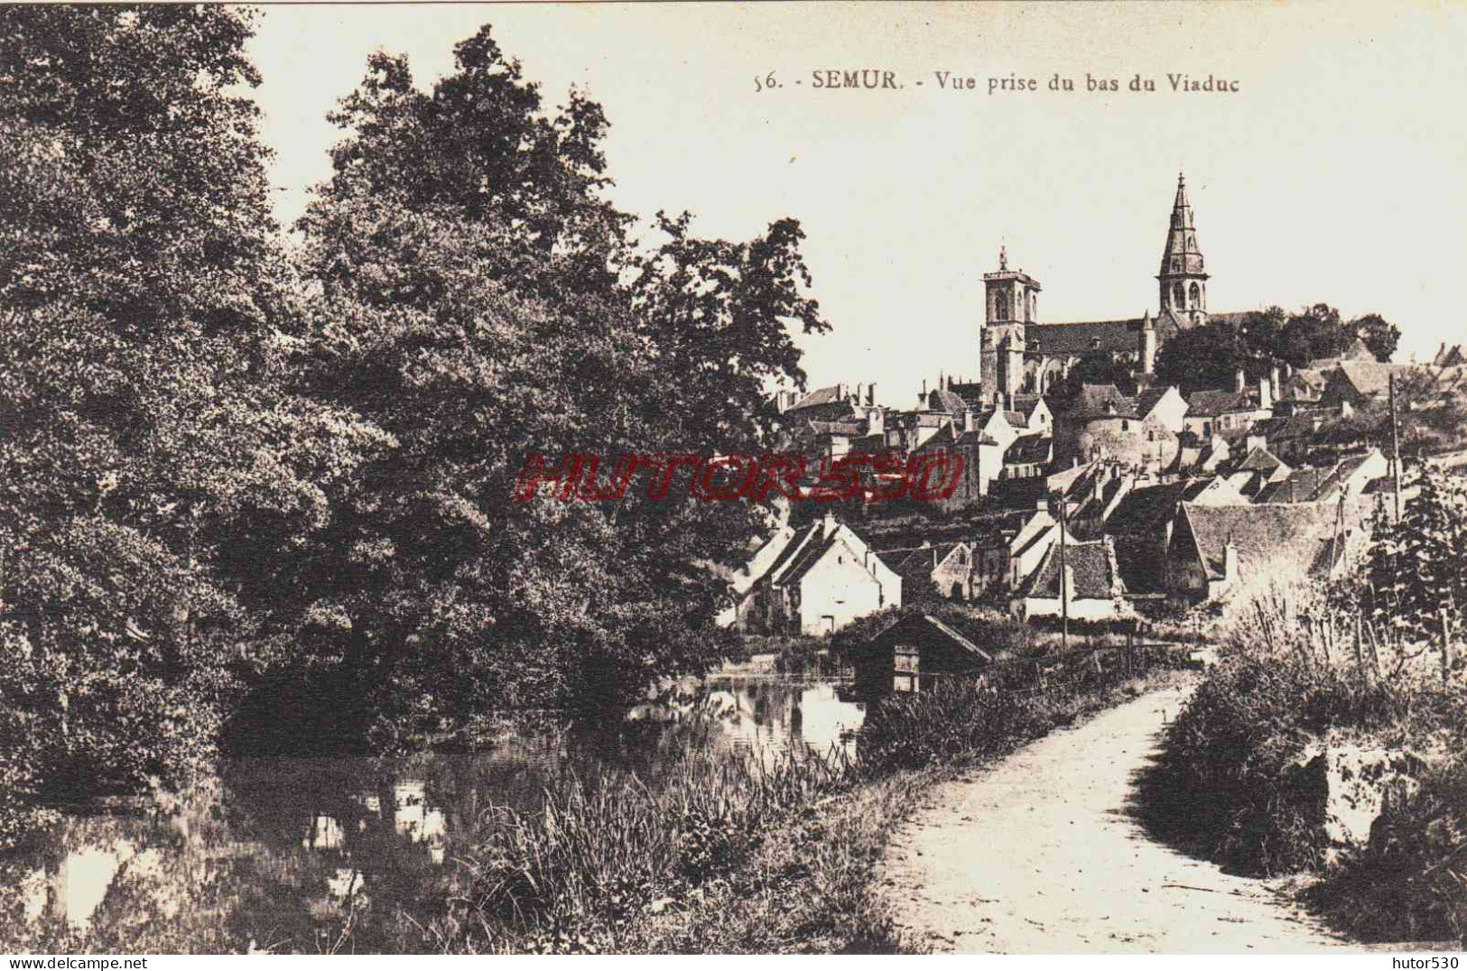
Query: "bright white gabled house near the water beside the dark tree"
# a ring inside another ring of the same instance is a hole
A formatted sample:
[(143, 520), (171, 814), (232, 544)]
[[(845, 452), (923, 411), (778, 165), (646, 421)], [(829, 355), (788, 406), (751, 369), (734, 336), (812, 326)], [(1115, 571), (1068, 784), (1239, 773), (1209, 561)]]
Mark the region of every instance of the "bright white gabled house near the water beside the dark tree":
[(902, 578), (851, 527), (826, 512), (785, 544), (750, 593), (750, 629), (817, 635), (901, 606)]

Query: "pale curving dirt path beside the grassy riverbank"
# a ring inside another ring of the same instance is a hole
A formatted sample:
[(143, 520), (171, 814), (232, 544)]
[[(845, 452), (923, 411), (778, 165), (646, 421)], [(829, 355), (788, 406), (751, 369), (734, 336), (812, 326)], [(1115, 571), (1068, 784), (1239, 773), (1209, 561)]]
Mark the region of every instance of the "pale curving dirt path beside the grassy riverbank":
[(1348, 948), (1267, 882), (1150, 840), (1133, 774), (1187, 689), (1144, 695), (936, 788), (877, 879), (904, 934), (955, 952)]

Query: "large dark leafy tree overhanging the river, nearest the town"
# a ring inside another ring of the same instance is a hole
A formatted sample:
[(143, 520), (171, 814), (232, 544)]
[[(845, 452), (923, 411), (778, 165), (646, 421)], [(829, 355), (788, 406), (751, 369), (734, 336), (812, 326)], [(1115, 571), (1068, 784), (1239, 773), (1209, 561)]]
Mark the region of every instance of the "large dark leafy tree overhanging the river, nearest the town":
[(713, 660), (709, 565), (760, 518), (641, 487), (516, 503), (527, 456), (757, 450), (766, 381), (804, 377), (786, 326), (826, 324), (798, 223), (731, 243), (659, 217), (638, 249), (601, 109), (549, 116), (489, 28), (455, 54), (431, 91), (368, 62), (299, 224), (321, 287), (302, 380), (399, 446), (301, 571), (336, 619), (315, 642), (392, 711), (619, 700)]

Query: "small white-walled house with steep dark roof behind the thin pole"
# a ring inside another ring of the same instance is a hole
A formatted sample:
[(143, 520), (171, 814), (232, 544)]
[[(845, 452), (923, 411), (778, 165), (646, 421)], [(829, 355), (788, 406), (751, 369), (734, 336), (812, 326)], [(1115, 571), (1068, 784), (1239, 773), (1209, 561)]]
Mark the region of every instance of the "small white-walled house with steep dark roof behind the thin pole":
[(1113, 620), (1133, 613), (1125, 593), (1109, 537), (1091, 543), (1067, 540), (1064, 546), (1056, 543), (1049, 547), (1021, 596), (1011, 603), (1011, 610), (1021, 620), (1061, 616)]

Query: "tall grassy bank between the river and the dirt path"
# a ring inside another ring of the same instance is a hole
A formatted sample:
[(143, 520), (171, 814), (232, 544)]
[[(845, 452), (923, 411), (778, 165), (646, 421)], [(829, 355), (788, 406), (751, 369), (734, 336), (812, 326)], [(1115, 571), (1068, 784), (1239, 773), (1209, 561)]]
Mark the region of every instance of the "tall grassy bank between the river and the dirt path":
[(892, 698), (868, 713), (860, 761), (688, 752), (656, 791), (572, 780), (541, 813), (496, 810), (447, 912), (403, 949), (898, 950), (873, 871), (927, 788), (1175, 678), (1166, 663), (1131, 679), (1086, 664), (1045, 694), (951, 682)]

